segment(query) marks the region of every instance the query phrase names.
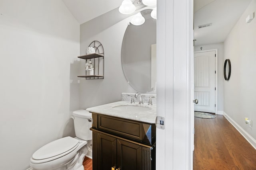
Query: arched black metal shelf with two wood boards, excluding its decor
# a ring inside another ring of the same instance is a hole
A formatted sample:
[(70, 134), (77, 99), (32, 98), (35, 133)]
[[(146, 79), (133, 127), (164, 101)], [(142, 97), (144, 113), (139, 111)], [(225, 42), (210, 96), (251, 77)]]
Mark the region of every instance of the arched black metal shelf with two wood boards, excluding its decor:
[[(78, 56), (80, 59), (92, 61), (94, 66), (94, 75), (88, 75), (88, 71), (85, 71), (85, 75), (78, 76), (86, 79), (104, 79), (104, 49), (99, 41), (92, 41), (88, 47), (93, 47), (95, 53)], [(100, 70), (100, 68), (102, 68)]]

